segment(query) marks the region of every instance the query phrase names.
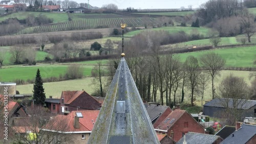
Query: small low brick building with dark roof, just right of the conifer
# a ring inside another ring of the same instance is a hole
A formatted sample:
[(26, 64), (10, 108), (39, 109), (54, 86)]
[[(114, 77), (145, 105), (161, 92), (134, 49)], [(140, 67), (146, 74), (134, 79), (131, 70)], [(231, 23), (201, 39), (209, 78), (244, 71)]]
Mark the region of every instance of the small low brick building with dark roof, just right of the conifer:
[(45, 104), (51, 113), (59, 113), (60, 99), (53, 99), (52, 96), (50, 96), (49, 99), (46, 99)]

